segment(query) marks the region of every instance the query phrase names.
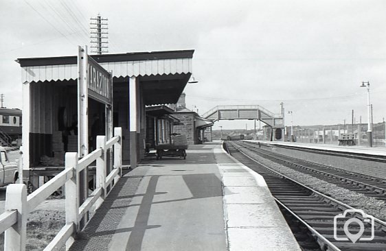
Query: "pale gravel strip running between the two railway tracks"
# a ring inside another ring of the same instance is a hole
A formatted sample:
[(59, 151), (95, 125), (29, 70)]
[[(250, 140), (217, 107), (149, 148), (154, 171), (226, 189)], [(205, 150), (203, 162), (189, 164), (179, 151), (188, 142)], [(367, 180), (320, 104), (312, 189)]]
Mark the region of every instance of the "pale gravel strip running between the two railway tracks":
[(378, 219), (383, 221), (386, 220), (386, 207), (385, 202), (383, 200), (377, 200), (372, 197), (367, 197), (361, 193), (356, 193), (354, 191), (350, 191), (348, 189), (343, 189), (338, 187), (335, 184), (330, 184), (324, 180), (319, 180), (313, 176), (308, 174), (303, 174), (299, 171), (295, 171), (289, 167), (284, 167), (284, 165), (280, 165), (274, 163), (271, 160), (267, 160), (266, 158), (260, 157), (258, 154), (250, 150), (243, 150), (247, 154), (251, 154), (253, 158), (256, 158), (260, 163), (274, 169), (275, 171), (284, 174), (288, 178), (296, 180), (299, 183), (305, 184), (308, 187), (319, 191), (325, 195), (334, 198), (335, 200), (339, 200), (345, 204), (348, 204), (356, 209), (362, 209), (365, 213), (369, 215), (373, 215)]

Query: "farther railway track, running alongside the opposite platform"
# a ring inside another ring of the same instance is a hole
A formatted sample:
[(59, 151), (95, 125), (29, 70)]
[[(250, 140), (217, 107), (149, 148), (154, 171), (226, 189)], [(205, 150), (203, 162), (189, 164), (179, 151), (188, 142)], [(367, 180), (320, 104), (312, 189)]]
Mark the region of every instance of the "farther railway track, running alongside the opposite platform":
[(386, 201), (385, 180), (277, 154), (275, 152), (263, 150), (253, 143), (243, 142), (238, 144), (242, 145), (242, 147), (247, 147), (253, 152), (257, 152), (260, 156), (272, 160), (275, 163), (291, 167), (291, 169), (301, 171), (304, 174), (319, 178), (320, 180), (325, 180), (331, 184), (336, 184), (338, 187), (343, 187), (350, 191), (355, 191), (378, 200)]

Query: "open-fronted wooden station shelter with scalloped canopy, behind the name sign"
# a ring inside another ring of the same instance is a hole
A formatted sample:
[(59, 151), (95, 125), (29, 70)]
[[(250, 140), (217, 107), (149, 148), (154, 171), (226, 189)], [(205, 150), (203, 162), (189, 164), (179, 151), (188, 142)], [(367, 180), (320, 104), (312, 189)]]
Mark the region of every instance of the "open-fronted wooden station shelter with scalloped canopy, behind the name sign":
[[(178, 121), (166, 118), (171, 110), (162, 105), (177, 103), (192, 75), (193, 53), (183, 50), (91, 56), (112, 72), (113, 126), (122, 127), (122, 158), (130, 167), (135, 168), (144, 158), (146, 143), (166, 141), (170, 121)], [(65, 152), (78, 152), (77, 60), (77, 56), (17, 60), (23, 84), (23, 169), (30, 176), (38, 170), (42, 156), (63, 159)], [(161, 107), (158, 111), (149, 108), (146, 115), (149, 106)], [(106, 108), (89, 97), (87, 109), (91, 152), (95, 149), (95, 135), (106, 134)]]

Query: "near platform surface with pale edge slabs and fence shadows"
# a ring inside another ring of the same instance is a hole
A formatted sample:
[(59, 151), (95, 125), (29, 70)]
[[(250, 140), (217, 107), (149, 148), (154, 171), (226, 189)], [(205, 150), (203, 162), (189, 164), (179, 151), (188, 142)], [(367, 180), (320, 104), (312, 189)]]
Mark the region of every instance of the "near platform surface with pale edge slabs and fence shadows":
[(123, 176), (70, 250), (300, 250), (262, 176), (220, 141)]

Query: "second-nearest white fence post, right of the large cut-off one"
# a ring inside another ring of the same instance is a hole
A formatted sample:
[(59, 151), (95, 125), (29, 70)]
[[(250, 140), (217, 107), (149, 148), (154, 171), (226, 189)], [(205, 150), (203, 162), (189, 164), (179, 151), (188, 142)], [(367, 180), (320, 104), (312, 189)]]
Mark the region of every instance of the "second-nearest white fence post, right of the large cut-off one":
[(65, 211), (66, 224), (75, 224), (72, 237), (66, 241), (67, 250), (71, 247), (74, 237), (79, 232), (79, 174), (78, 174), (78, 153), (67, 152), (65, 155), (65, 169), (72, 169), (71, 179), (65, 183)]

